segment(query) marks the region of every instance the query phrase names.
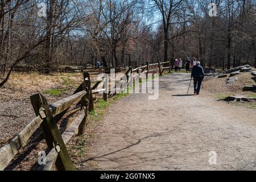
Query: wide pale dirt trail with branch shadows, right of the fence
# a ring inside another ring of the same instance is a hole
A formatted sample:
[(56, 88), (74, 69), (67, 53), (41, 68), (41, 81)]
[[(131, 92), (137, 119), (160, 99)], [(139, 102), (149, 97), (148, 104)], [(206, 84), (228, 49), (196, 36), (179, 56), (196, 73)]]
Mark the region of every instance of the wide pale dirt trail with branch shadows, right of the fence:
[[(188, 80), (160, 77), (158, 100), (130, 94), (115, 102), (95, 124), (85, 162), (100, 170), (255, 170), (256, 110), (216, 101), (204, 89), (189, 96)], [(209, 165), (210, 151), (217, 165)]]

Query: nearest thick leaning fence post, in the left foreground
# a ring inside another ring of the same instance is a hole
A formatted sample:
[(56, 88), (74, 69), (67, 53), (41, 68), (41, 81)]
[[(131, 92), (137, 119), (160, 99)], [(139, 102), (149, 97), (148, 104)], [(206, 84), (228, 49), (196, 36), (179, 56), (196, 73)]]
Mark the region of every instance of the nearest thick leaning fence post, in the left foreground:
[(51, 149), (56, 147), (56, 145), (60, 146), (60, 152), (55, 162), (57, 170), (73, 171), (72, 161), (69, 158), (67, 148), (64, 144), (63, 138), (61, 137), (56, 121), (53, 118), (51, 110), (49, 110), (46, 98), (39, 93), (31, 96), (30, 100), (36, 116), (40, 115), (43, 119), (40, 127), (43, 131), (48, 148)]

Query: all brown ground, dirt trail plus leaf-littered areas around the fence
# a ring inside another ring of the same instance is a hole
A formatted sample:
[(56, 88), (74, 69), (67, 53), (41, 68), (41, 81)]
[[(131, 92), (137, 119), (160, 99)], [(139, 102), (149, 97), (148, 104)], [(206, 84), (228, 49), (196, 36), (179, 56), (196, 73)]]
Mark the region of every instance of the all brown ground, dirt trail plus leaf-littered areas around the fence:
[[(249, 73), (240, 77), (245, 77), (246, 82), (254, 81)], [(75, 167), (80, 170), (255, 169), (254, 164), (250, 163), (254, 162), (255, 155), (255, 110), (216, 102), (216, 98), (208, 97), (208, 92), (202, 92), (199, 100), (197, 96), (172, 96), (187, 92), (187, 80), (184, 74), (162, 77), (158, 101), (148, 101), (146, 94), (132, 94), (110, 107), (100, 125), (94, 122), (90, 126), (92, 123), (89, 122), (86, 135), (74, 137), (68, 144)], [(225, 80), (205, 81), (203, 87), (209, 90), (217, 83), (217, 88), (222, 89), (220, 85)], [(29, 99), (32, 94), (64, 88), (65, 91), (59, 97), (44, 94), (48, 102), (53, 103), (72, 94), (81, 81), (82, 76), (73, 73), (56, 76), (14, 73), (4, 88), (0, 89), (0, 147), (35, 117)], [(225, 90), (214, 90), (210, 94), (228, 93), (232, 89), (226, 87)], [(237, 92), (240, 92), (239, 89)], [(200, 115), (193, 115), (197, 105)], [(241, 114), (237, 116), (237, 113)], [(72, 121), (72, 117), (69, 119)], [(66, 124), (61, 128), (67, 127), (68, 123), (65, 122), (65, 119), (61, 121)], [(96, 137), (93, 137), (94, 133)], [(42, 135), (39, 138), (36, 136), (27, 148), (20, 151), (7, 170), (34, 169), (37, 152), (46, 149)], [(87, 157), (83, 160), (82, 156), (88, 152), (89, 146), (93, 146), (89, 156), (96, 156), (96, 159), (88, 160)], [(221, 161), (218, 161), (217, 166), (209, 166), (209, 150), (218, 152), (218, 160)], [(227, 159), (228, 162), (225, 162)]]

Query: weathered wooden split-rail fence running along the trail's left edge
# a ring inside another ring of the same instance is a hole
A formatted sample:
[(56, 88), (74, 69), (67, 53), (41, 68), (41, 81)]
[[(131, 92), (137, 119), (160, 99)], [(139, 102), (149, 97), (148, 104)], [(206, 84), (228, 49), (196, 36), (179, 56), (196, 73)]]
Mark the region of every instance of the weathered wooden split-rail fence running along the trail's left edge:
[[(164, 65), (167, 65), (164, 67)], [(171, 72), (171, 64), (169, 61), (164, 63), (154, 63), (138, 67), (135, 69), (129, 68), (125, 75), (127, 78), (131, 73), (136, 72), (135, 76), (141, 75), (142, 73), (155, 73), (159, 71), (159, 75), (162, 75), (165, 70)], [(138, 75), (137, 75), (138, 74)], [(101, 89), (98, 89), (102, 82), (105, 82), (108, 78), (102, 78), (102, 80), (97, 81), (95, 85), (92, 84), (90, 80), (90, 74), (84, 73), (84, 81), (81, 83), (79, 88), (76, 89), (72, 96), (64, 98), (61, 101), (57, 101), (53, 104), (48, 104), (46, 97), (41, 93), (34, 94), (30, 97), (32, 107), (35, 111), (36, 118), (32, 119), (27, 126), (25, 126), (20, 133), (18, 133), (13, 139), (10, 140), (5, 146), (0, 148), (0, 171), (4, 170), (18, 152), (24, 149), (32, 135), (40, 127), (42, 130), (44, 139), (46, 140), (48, 146), (48, 154), (46, 156), (46, 164), (39, 166), (40, 171), (51, 171), (56, 167), (59, 171), (72, 171), (73, 164), (71, 158), (69, 157), (66, 144), (77, 132), (77, 135), (82, 135), (85, 133), (86, 129), (86, 118), (88, 112), (94, 110), (93, 105), (93, 94), (102, 93), (103, 99), (108, 101), (109, 95), (109, 85), (103, 84)], [(122, 79), (122, 78), (121, 78)], [(108, 80), (107, 80), (108, 81)], [(122, 81), (122, 80), (120, 80)], [(126, 88), (129, 85), (130, 80), (126, 82)], [(122, 88), (125, 90), (126, 88)], [(79, 106), (80, 111), (68, 129), (64, 131), (63, 134), (57, 126), (57, 123), (64, 117), (64, 115), (71, 110), (72, 106)]]

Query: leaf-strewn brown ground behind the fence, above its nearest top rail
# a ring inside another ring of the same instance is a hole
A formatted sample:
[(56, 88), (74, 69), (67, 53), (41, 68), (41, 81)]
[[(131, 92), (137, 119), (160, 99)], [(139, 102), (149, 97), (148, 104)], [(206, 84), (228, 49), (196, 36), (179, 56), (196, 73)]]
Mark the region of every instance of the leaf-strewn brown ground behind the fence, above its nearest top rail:
[(39, 75), (38, 73), (13, 73), (0, 88), (0, 147), (27, 125), (35, 112), (30, 96), (50, 89), (65, 89), (59, 97), (44, 94), (49, 104), (70, 96), (81, 84), (82, 76), (73, 73)]

